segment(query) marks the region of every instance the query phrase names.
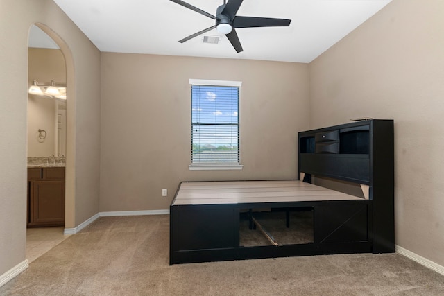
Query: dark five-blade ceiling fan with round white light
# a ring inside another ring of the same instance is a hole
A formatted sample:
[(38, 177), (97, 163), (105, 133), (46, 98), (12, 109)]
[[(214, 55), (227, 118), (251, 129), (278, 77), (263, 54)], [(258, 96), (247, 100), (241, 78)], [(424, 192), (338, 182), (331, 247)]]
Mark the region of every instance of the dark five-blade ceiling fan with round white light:
[(228, 3), (224, 0), (223, 4), (219, 6), (216, 10), (216, 16), (211, 15), (208, 12), (205, 12), (195, 6), (192, 6), (189, 3), (186, 3), (181, 0), (171, 0), (174, 3), (178, 3), (181, 6), (194, 10), (201, 15), (205, 15), (205, 17), (210, 17), (210, 19), (216, 20), (216, 24), (214, 26), (210, 26), (210, 28), (203, 29), (193, 35), (189, 35), (182, 40), (179, 40), (180, 43), (190, 40), (191, 38), (197, 37), (200, 34), (211, 31), (216, 28), (219, 33), (225, 34), (230, 40), (230, 43), (237, 51), (240, 53), (244, 51), (241, 46), (241, 42), (239, 41), (239, 37), (237, 37), (237, 33), (235, 28), (255, 28), (255, 27), (280, 27), (280, 26), (290, 26), (291, 19), (272, 19), (268, 17), (241, 17), (237, 16), (237, 10), (242, 4), (244, 0), (229, 0)]

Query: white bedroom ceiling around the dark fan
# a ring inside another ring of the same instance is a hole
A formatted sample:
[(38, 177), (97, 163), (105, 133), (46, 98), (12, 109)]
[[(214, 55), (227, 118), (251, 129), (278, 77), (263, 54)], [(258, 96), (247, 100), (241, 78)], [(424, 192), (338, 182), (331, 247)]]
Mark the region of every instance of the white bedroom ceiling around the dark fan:
[[(100, 51), (311, 62), (391, 0), (245, 0), (237, 15), (291, 19), (289, 27), (238, 28), (236, 53), (225, 36), (178, 40), (214, 20), (169, 0), (54, 0)], [(223, 0), (185, 0), (216, 15)], [(57, 28), (53, 28), (57, 31)]]

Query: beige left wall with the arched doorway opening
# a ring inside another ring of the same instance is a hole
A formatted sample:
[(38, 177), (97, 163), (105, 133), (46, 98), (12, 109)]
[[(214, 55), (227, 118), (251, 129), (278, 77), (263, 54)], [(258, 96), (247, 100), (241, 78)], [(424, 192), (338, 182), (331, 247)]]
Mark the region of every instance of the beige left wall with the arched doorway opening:
[[(53, 1), (0, 0), (0, 275), (25, 260), (28, 32), (48, 26), (67, 60), (74, 227), (99, 211), (100, 52)], [(65, 42), (65, 43), (64, 43)], [(71, 87), (70, 87), (71, 86)], [(73, 152), (74, 150), (74, 152)], [(67, 164), (68, 165), (68, 164)], [(75, 170), (74, 170), (75, 168)]]

